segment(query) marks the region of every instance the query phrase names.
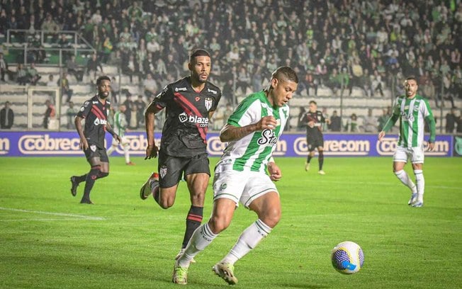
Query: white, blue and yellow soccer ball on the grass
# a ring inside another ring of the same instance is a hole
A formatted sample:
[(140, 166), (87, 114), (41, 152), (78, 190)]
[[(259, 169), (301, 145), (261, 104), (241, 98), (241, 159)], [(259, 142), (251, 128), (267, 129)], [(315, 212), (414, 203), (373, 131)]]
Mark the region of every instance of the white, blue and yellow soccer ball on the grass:
[(334, 246), (330, 259), (335, 270), (342, 274), (353, 274), (363, 266), (364, 254), (358, 244), (346, 241)]

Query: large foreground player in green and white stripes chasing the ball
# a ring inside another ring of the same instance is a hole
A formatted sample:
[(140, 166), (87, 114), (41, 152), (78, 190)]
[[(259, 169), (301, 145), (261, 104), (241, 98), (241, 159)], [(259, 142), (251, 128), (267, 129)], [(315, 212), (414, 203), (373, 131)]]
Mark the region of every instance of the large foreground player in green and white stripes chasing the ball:
[(269, 86), (247, 96), (227, 120), (220, 140), (229, 143), (215, 166), (212, 216), (194, 231), (175, 268), (187, 272), (191, 259), (230, 225), (235, 208), (242, 203), (256, 212), (258, 219), (242, 232), (222, 261), (213, 266), (218, 276), (235, 284), (234, 263), (254, 249), (279, 222), (281, 202), (273, 181), (282, 175), (271, 154), (288, 120), (287, 102), (297, 86), (298, 77), (293, 69), (279, 67), (271, 75)]

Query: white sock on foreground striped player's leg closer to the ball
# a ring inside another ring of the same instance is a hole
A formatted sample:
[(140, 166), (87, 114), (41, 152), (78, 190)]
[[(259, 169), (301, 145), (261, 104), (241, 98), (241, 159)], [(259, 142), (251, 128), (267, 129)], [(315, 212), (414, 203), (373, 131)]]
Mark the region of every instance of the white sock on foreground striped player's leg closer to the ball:
[(255, 221), (252, 225), (242, 232), (237, 243), (232, 247), (230, 252), (222, 259), (223, 263), (236, 263), (237, 260), (241, 259), (250, 250), (254, 249), (257, 244), (264, 237), (268, 236), (271, 232), (271, 228), (268, 227), (260, 219)]

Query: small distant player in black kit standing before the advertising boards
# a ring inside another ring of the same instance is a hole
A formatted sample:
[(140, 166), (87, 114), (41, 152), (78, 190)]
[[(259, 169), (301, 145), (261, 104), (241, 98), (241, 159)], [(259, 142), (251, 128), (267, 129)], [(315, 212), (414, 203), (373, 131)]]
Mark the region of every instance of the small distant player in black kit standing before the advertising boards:
[(325, 123), (324, 115), (317, 110), (316, 101), (310, 101), (310, 109), (302, 116), (302, 122), (306, 123), (306, 142), (308, 144), (308, 157), (305, 163), (305, 171), (310, 169), (310, 161), (315, 156), (315, 149), (319, 154), (319, 174), (325, 174), (322, 171), (324, 163), (324, 137), (322, 136), (322, 125)]

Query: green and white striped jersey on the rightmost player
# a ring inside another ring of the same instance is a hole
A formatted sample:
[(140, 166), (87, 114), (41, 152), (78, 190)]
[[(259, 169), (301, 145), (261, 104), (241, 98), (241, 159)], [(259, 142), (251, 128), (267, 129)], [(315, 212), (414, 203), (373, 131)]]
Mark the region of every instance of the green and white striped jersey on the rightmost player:
[[(418, 94), (411, 99), (405, 95), (398, 96), (393, 106), (392, 118), (398, 117), (400, 120), (398, 145), (401, 147), (423, 147), (425, 119), (434, 119), (427, 99)], [(434, 128), (432, 132), (430, 141), (434, 141)]]

